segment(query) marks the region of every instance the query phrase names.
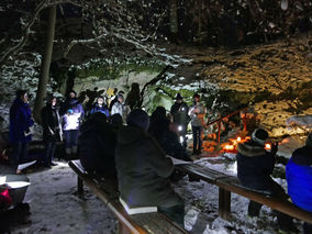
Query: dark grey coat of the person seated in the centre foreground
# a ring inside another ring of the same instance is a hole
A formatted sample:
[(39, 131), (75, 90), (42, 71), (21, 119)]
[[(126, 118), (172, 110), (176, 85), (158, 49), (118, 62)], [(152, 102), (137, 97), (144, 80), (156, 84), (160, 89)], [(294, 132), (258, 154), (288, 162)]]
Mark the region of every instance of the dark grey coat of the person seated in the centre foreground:
[(182, 200), (171, 189), (168, 177), (174, 165), (146, 132), (122, 126), (115, 154), (121, 198), (130, 207), (172, 207)]

